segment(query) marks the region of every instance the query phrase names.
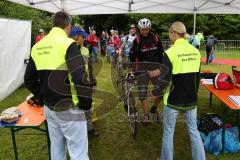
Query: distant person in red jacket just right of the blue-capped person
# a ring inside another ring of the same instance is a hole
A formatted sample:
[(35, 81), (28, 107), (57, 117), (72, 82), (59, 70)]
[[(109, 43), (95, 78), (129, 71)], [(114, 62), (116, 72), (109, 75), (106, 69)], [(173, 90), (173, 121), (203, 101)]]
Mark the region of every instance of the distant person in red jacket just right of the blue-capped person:
[(92, 30), (91, 34), (88, 36), (88, 43), (92, 46), (92, 53), (91, 57), (93, 59), (93, 62), (97, 62), (97, 50), (98, 50), (98, 37), (96, 35), (96, 31)]

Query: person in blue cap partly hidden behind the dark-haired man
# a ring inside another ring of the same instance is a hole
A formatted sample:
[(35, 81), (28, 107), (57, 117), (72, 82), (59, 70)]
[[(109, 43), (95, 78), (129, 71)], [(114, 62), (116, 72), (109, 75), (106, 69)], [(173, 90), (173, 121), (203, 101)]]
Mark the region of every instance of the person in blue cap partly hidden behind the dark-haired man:
[[(81, 55), (83, 56), (85, 70), (86, 70), (86, 74), (84, 77), (85, 84), (87, 84), (87, 87), (92, 88), (94, 93), (96, 90), (97, 81), (93, 75), (93, 67), (92, 67), (90, 56), (89, 56), (89, 50), (88, 48), (84, 47), (84, 40), (88, 37), (88, 34), (79, 27), (73, 27), (69, 36), (70, 38), (76, 41), (81, 51)], [(82, 100), (84, 102), (83, 105), (89, 105), (89, 106), (85, 106), (84, 108), (91, 108), (90, 110), (85, 111), (86, 117), (87, 117), (88, 135), (93, 135), (94, 137), (98, 137), (99, 133), (94, 128), (93, 122), (92, 122), (92, 96), (82, 97)]]

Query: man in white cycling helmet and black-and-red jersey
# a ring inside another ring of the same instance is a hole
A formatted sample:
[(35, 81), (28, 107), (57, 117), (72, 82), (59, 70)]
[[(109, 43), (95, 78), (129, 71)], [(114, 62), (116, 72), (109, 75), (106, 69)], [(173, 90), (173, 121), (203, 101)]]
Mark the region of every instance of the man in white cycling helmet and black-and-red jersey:
[(149, 81), (152, 82), (154, 89), (151, 94), (154, 98), (154, 103), (151, 108), (151, 113), (157, 111), (157, 107), (162, 99), (159, 95), (159, 77), (151, 76), (151, 71), (159, 69), (163, 57), (163, 45), (159, 37), (151, 32), (151, 22), (147, 18), (143, 18), (138, 22), (140, 35), (135, 38), (129, 54), (130, 61), (135, 63), (133, 70), (136, 71), (135, 76), (138, 81), (139, 99), (143, 107), (143, 123), (149, 122), (147, 91)]

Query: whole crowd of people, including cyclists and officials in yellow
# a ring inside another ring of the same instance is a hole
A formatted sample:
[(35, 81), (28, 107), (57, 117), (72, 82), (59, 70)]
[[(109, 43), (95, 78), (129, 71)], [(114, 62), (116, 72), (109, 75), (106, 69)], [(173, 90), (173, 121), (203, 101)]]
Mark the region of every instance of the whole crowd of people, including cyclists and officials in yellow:
[[(155, 113), (163, 101), (160, 158), (173, 160), (176, 119), (184, 113), (192, 157), (206, 159), (196, 122), (202, 32), (187, 36), (185, 25), (176, 21), (168, 30), (171, 47), (165, 50), (147, 18), (140, 19), (137, 26), (131, 24), (129, 34), (121, 36), (113, 29), (110, 36), (102, 31), (97, 37), (95, 30), (87, 34), (79, 26), (72, 27), (71, 17), (63, 11), (54, 14), (53, 26), (46, 36), (40, 30), (41, 40), (37, 38), (32, 48), (24, 77), (26, 87), (44, 103), (52, 160), (65, 159), (66, 149), (72, 160), (89, 159), (88, 135), (99, 135), (91, 121), (92, 95), (97, 86), (92, 63), (98, 62), (98, 52), (102, 56), (109, 54), (109, 46), (111, 54), (134, 64), (131, 71), (137, 77), (143, 124), (148, 124), (149, 112)], [(217, 39), (210, 35), (206, 41), (206, 63), (216, 43)], [(150, 81), (154, 102), (148, 109)]]

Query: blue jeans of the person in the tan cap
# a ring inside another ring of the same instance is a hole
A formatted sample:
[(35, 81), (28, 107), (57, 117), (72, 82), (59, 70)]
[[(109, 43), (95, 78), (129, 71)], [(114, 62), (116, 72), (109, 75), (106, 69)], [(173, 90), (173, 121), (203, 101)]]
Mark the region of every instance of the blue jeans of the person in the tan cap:
[[(179, 112), (180, 111), (168, 106), (164, 107), (161, 160), (173, 160), (173, 135)], [(206, 160), (203, 142), (197, 129), (197, 108), (184, 112), (184, 116), (191, 140), (192, 159)]]

